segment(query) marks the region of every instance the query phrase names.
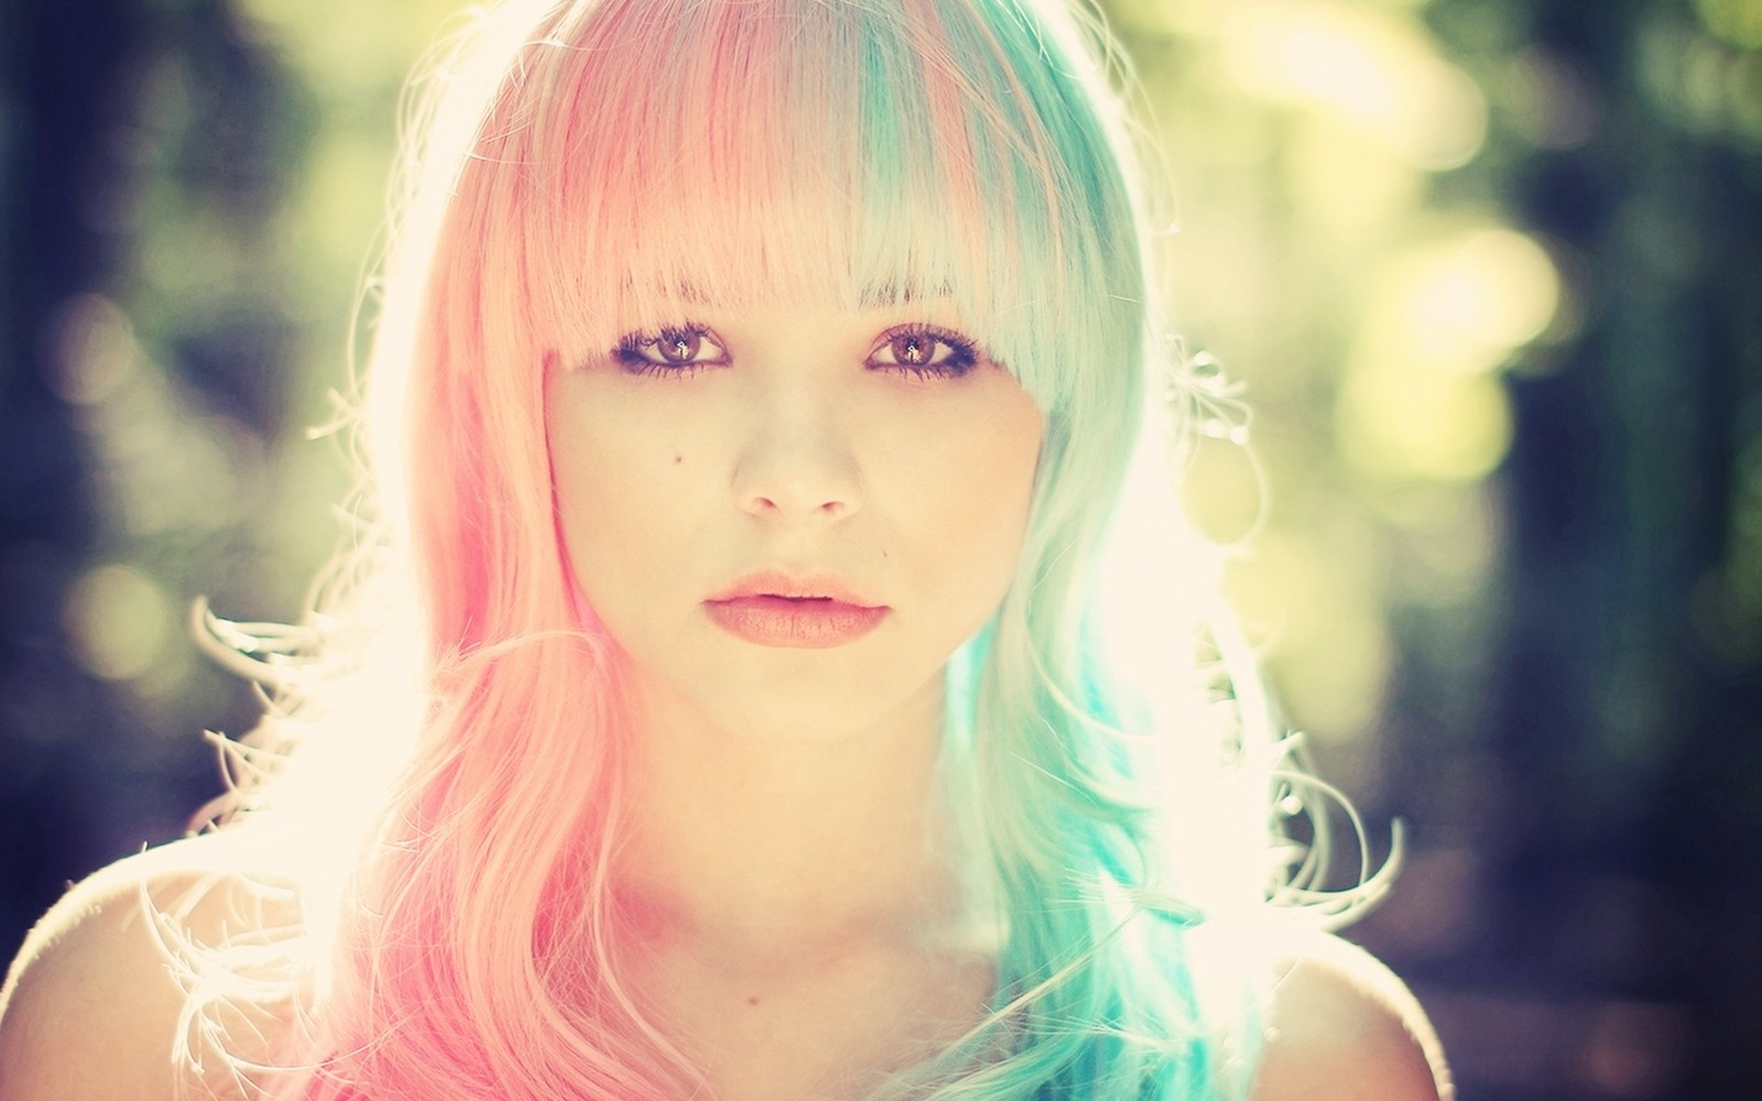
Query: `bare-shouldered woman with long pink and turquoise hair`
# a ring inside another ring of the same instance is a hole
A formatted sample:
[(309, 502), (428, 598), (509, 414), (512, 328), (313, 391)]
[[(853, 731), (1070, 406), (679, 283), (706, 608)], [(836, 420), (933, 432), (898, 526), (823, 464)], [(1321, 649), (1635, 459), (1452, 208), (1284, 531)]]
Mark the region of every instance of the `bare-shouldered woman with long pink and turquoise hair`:
[(213, 624), (277, 691), (226, 824), (39, 927), (0, 1097), (1447, 1092), (1300, 932), (1380, 881), (1277, 905), (1108, 62), (1054, 0), (486, 19), (370, 550), (305, 632)]

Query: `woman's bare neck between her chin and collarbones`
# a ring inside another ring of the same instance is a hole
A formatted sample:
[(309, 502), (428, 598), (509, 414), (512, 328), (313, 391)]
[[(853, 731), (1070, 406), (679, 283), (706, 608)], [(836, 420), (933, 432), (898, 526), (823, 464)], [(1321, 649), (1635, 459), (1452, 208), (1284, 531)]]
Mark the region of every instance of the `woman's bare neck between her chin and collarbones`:
[(939, 678), (837, 736), (719, 729), (640, 680), (629, 703), (631, 830), (615, 874), (638, 937), (802, 958), (959, 920)]

